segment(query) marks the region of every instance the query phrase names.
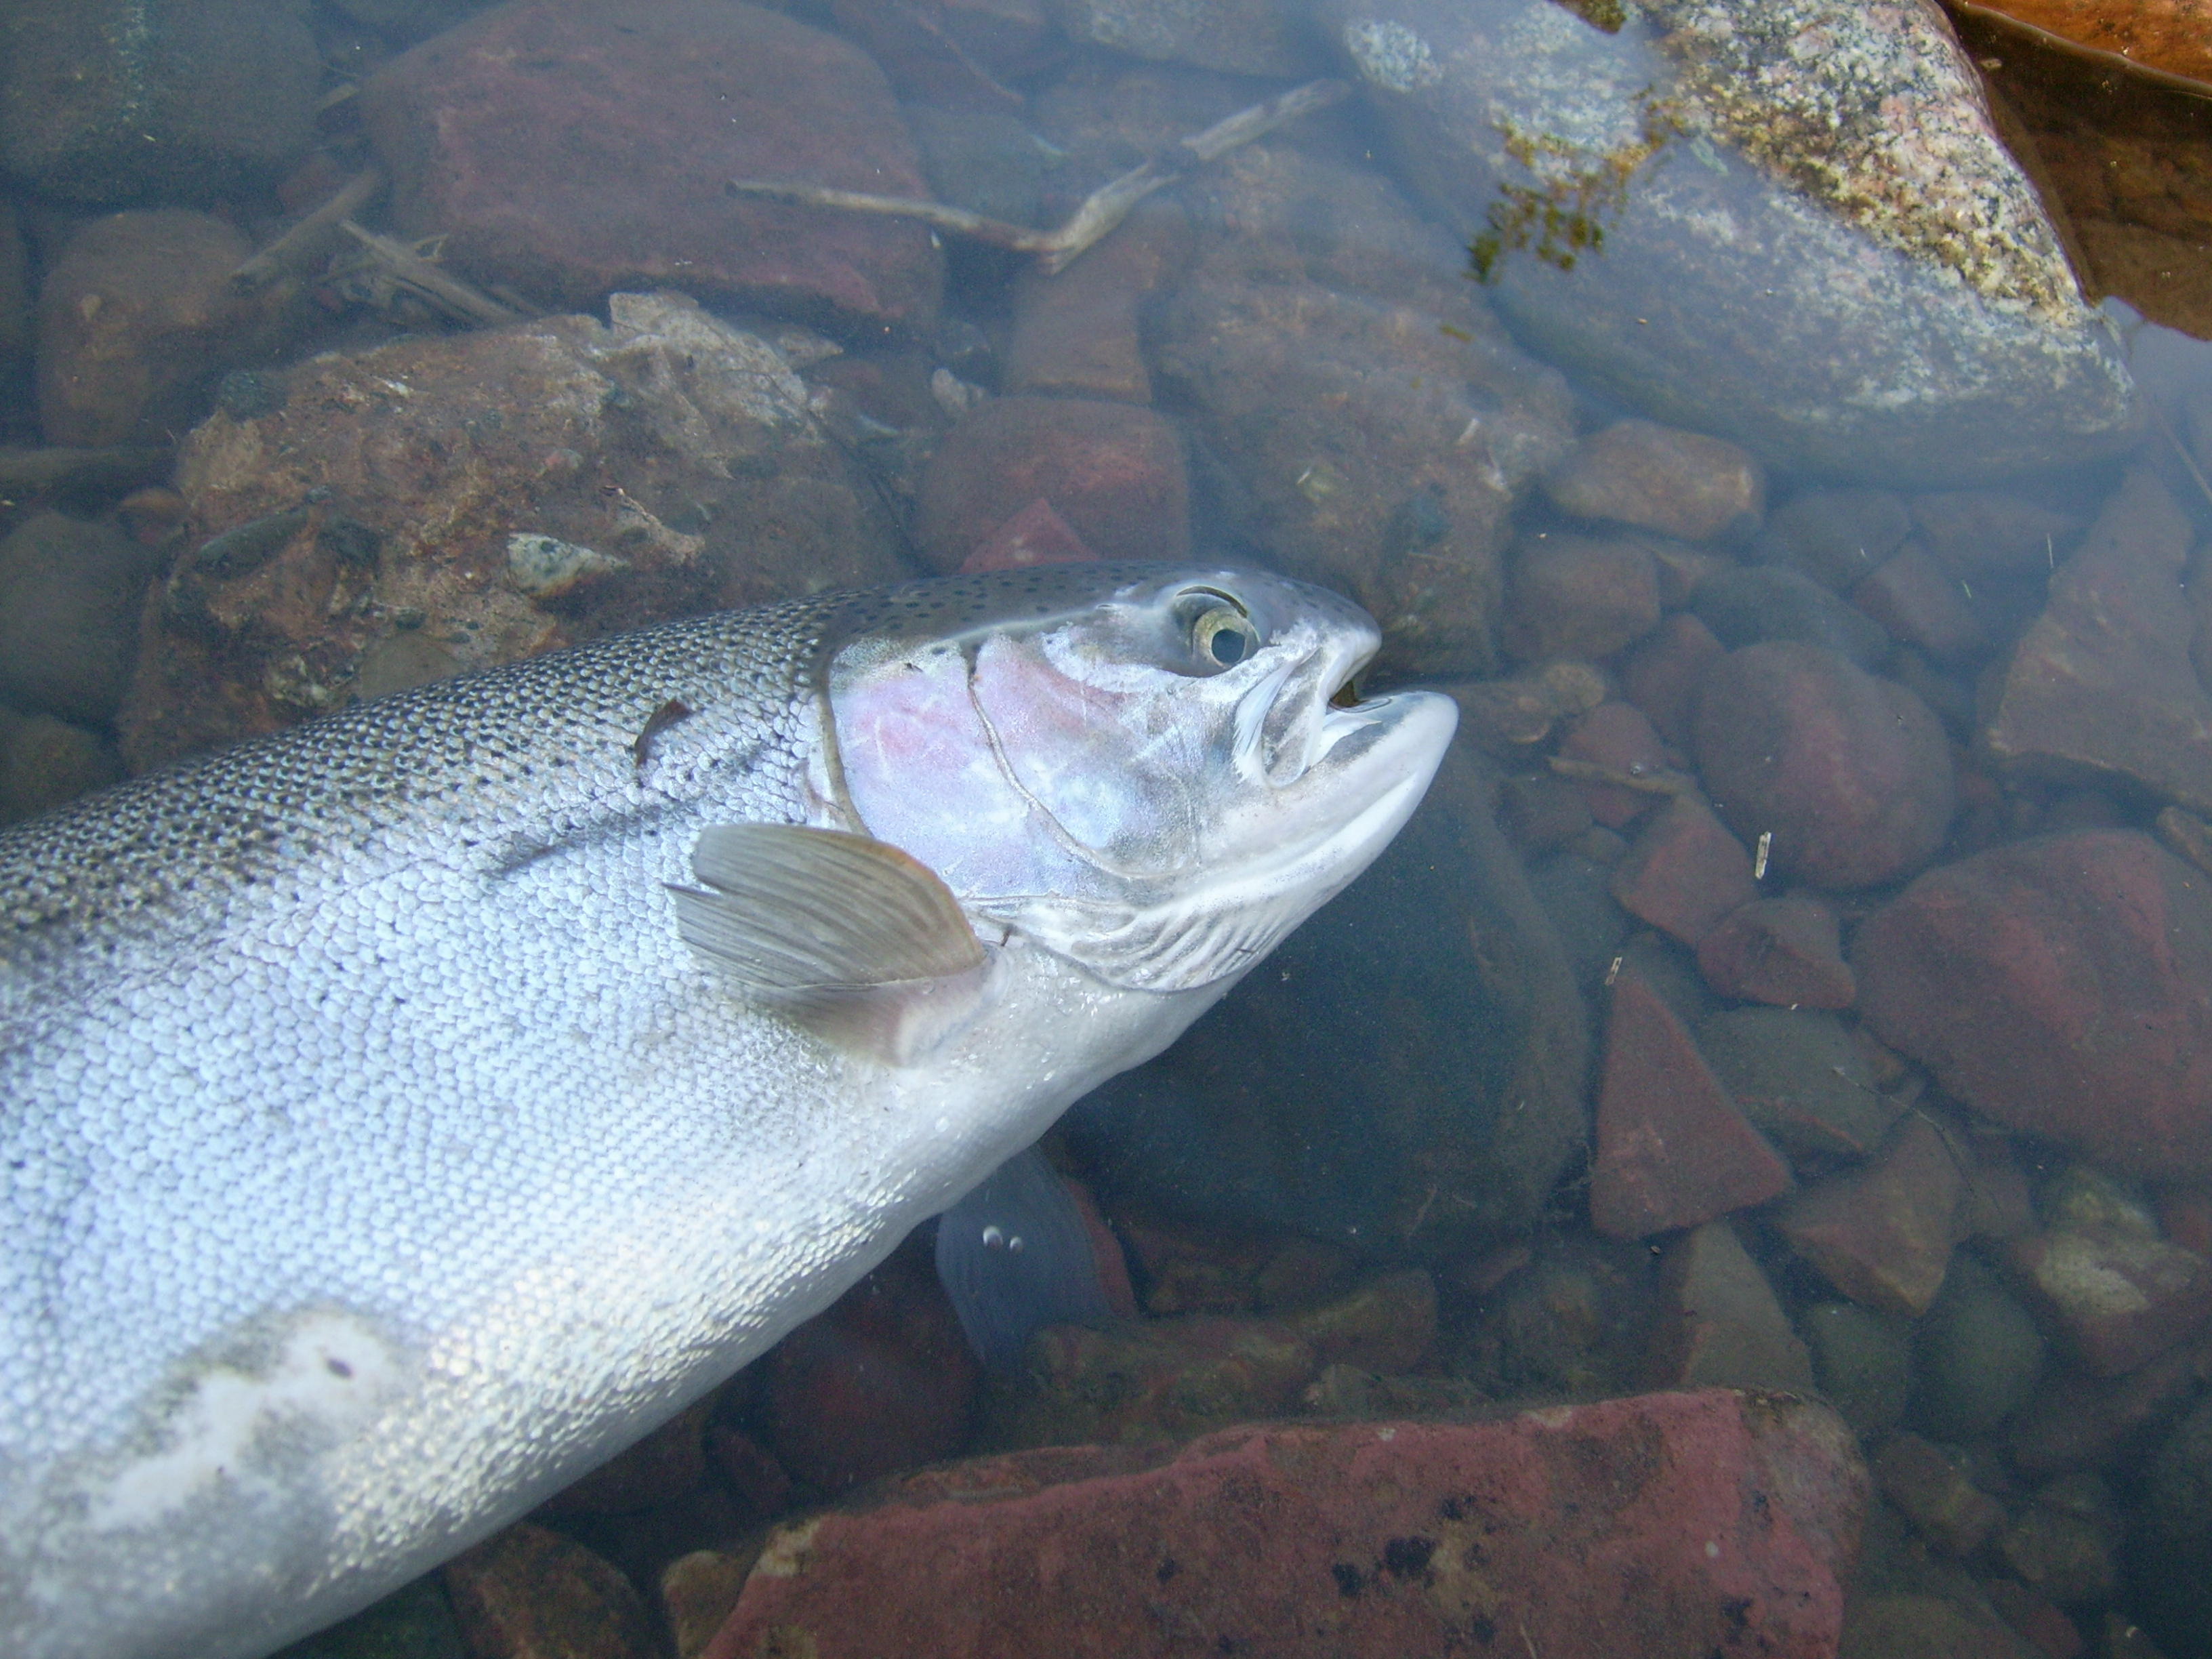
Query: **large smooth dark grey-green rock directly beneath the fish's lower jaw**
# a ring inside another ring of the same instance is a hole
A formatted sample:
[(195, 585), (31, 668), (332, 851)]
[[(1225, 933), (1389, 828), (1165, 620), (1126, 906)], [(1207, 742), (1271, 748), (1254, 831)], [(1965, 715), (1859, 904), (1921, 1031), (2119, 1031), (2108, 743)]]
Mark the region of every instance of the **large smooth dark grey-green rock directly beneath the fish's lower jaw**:
[(1467, 745), (1360, 880), (1068, 1113), (1108, 1201), (1440, 1259), (1528, 1228), (1584, 1137), (1582, 998)]

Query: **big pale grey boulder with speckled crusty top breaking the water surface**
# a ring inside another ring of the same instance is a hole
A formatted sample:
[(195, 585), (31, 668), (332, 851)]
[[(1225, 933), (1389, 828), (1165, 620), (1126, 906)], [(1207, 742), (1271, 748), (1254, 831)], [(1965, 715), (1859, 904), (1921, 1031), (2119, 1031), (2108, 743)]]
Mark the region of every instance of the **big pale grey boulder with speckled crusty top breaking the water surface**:
[(1617, 27), (1321, 7), (1524, 341), (1798, 471), (1964, 480), (2135, 440), (2128, 369), (1933, 0), (1584, 11)]

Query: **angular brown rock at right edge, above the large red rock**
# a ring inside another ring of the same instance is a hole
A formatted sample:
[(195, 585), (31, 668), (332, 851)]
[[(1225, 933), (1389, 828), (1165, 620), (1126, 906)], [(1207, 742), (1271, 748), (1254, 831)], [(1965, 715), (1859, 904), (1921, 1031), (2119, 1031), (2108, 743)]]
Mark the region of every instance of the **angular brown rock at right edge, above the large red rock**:
[(2181, 584), (2192, 542), (2166, 487), (2128, 473), (1995, 684), (1982, 741), (1997, 761), (2212, 812), (2212, 697)]

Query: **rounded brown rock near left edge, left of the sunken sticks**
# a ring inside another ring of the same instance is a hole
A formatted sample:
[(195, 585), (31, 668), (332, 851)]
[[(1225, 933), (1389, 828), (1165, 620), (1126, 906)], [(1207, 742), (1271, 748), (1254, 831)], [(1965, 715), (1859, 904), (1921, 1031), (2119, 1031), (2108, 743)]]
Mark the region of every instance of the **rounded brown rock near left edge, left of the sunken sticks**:
[(210, 380), (283, 343), (285, 290), (230, 285), (252, 243), (204, 212), (117, 212), (69, 239), (38, 301), (38, 420), (51, 445), (166, 442)]

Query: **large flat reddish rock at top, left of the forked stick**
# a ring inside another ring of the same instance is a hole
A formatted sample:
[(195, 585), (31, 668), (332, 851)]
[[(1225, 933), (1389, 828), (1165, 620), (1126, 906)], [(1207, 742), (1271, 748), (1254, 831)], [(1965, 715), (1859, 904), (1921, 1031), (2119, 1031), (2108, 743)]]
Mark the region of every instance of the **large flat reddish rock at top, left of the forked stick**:
[(847, 330), (925, 327), (922, 226), (792, 208), (730, 179), (927, 197), (883, 71), (737, 0), (520, 0), (394, 58), (363, 122), (409, 234), (553, 307), (670, 285)]

